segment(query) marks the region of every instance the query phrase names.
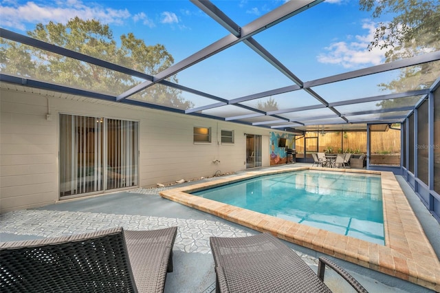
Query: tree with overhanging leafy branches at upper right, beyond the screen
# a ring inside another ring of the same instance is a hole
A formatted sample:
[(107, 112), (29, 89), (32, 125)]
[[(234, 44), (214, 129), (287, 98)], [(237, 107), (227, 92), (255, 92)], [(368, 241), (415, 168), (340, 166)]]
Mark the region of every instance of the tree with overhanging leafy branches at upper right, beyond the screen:
[[(380, 22), (369, 48), (386, 50), (386, 62), (440, 50), (440, 2), (438, 0), (360, 0), (361, 10), (372, 12), (373, 19), (393, 14), (393, 20)], [(439, 62), (406, 67), (383, 90), (393, 92), (426, 89), (438, 77)], [(380, 102), (382, 107), (398, 107), (400, 99)]]

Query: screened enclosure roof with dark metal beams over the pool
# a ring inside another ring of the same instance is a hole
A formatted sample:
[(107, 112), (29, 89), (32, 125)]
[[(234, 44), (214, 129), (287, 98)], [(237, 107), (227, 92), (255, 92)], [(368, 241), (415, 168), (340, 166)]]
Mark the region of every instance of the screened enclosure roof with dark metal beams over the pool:
[[(69, 97), (287, 131), (365, 129), (403, 121), (440, 83), (436, 21), (412, 6), (375, 16), (358, 1), (49, 0), (30, 18), (28, 2), (3, 4), (0, 81)], [(417, 34), (381, 39), (399, 17)]]

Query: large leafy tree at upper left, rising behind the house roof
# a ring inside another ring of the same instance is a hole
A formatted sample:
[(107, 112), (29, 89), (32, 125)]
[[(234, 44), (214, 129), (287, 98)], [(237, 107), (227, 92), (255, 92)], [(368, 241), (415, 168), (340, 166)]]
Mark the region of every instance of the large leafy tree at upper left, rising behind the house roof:
[[(119, 47), (113, 39), (109, 25), (103, 25), (94, 19), (84, 21), (75, 17), (65, 25), (52, 21), (47, 25), (39, 23), (28, 35), (150, 75), (155, 75), (174, 63), (173, 56), (166, 51), (164, 45), (146, 45), (142, 39), (136, 39), (133, 33), (120, 36)], [(3, 61), (1, 72), (105, 94), (118, 95), (144, 81), (4, 39), (1, 39), (0, 57)], [(171, 76), (169, 80), (177, 83), (177, 76)], [(159, 84), (140, 91), (133, 98), (179, 109), (192, 107), (192, 102), (181, 97), (181, 91)]]

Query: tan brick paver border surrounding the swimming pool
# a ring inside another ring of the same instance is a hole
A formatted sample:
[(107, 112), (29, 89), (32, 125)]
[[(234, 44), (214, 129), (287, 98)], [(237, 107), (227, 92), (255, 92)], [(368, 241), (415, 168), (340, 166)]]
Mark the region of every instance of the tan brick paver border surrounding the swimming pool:
[(189, 194), (251, 177), (306, 169), (335, 171), (335, 169), (291, 165), (283, 169), (247, 171), (219, 180), (169, 189), (159, 194), (166, 199), (197, 208), (253, 230), (270, 232), (280, 239), (316, 252), (322, 252), (331, 257), (440, 292), (439, 258), (423, 232), (423, 228), (401, 190), (399, 182), (391, 172), (338, 169), (338, 172), (381, 175), (385, 246)]

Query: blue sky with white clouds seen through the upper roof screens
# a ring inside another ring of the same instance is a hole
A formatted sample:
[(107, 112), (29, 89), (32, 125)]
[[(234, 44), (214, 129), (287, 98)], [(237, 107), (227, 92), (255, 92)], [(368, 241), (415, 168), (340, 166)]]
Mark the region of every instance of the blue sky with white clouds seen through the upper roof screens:
[[(212, 2), (241, 26), (285, 3), (279, 0)], [(0, 1), (1, 27), (21, 34), (32, 30), (36, 23), (65, 23), (76, 16), (109, 24), (116, 40), (121, 34), (133, 32), (147, 45), (161, 43), (176, 63), (228, 34), (186, 0)], [(369, 12), (359, 10), (358, 1), (331, 0), (257, 34), (254, 39), (301, 80), (308, 81), (383, 63), (384, 52), (367, 48), (376, 27)], [(249, 78), (255, 72), (263, 74)], [(178, 77), (181, 85), (225, 98), (292, 84), (243, 44), (180, 72)], [(372, 85), (377, 83), (372, 81)], [(354, 80), (351, 86), (356, 87)]]

